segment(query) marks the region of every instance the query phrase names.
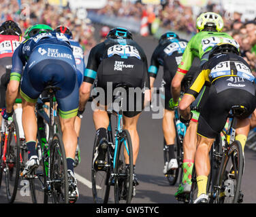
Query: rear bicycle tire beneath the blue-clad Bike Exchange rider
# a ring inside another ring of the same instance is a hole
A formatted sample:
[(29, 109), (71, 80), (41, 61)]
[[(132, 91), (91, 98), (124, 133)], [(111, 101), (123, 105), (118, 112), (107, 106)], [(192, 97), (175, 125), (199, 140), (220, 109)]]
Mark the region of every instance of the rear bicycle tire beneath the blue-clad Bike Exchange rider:
[[(50, 190), (53, 203), (69, 203), (67, 160), (63, 140), (54, 134), (50, 144)], [(58, 164), (59, 165), (58, 165)]]

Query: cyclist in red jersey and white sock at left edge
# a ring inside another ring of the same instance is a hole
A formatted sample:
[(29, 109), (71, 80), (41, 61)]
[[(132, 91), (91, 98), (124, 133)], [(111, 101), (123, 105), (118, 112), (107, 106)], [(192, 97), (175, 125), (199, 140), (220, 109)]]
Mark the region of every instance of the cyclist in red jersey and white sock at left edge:
[[(0, 26), (0, 108), (5, 108), (5, 91), (7, 84), (10, 81), (10, 73), (12, 68), (12, 55), (14, 50), (23, 41), (22, 32), (18, 24), (12, 20), (3, 22)], [(22, 130), (22, 107), (21, 104), (17, 104), (14, 107), (16, 113), (16, 119), (18, 123), (20, 138), (24, 137)], [(0, 116), (0, 123), (2, 117)]]

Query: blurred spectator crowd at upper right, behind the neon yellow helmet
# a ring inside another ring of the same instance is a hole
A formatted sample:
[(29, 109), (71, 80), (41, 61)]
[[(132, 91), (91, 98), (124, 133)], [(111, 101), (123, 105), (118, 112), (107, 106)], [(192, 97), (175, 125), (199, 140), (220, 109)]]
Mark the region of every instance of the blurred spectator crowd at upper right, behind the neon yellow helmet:
[[(97, 11), (98, 14), (108, 16), (133, 17), (140, 22), (142, 16), (148, 16), (148, 26), (155, 19), (160, 20), (160, 26), (172, 31), (183, 31), (188, 34), (196, 33), (195, 20), (202, 12), (215, 12), (223, 17), (225, 27), (223, 31), (233, 36), (240, 44), (242, 56), (251, 65), (253, 71), (256, 68), (256, 19), (241, 21), (242, 14), (234, 12), (227, 16), (223, 7), (208, 1), (206, 7), (195, 10), (193, 7), (185, 7), (178, 0), (161, 1), (161, 5), (143, 5), (141, 1), (109, 0), (108, 4)], [(150, 29), (149, 29), (150, 31)], [(256, 74), (255, 74), (256, 75)]]

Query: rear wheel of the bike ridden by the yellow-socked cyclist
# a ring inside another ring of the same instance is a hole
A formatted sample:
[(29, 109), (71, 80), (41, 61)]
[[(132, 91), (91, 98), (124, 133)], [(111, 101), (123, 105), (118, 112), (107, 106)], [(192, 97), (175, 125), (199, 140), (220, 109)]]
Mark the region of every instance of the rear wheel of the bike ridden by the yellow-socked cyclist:
[(234, 141), (221, 162), (221, 169), (217, 179), (217, 203), (241, 203), (244, 158), (242, 146), (239, 141)]

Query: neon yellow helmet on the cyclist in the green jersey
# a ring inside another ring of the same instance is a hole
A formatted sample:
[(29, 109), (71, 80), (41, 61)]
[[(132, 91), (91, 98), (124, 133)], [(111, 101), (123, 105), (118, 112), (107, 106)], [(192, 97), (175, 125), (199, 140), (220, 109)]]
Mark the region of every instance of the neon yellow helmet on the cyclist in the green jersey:
[(218, 32), (222, 31), (224, 26), (223, 19), (219, 14), (214, 12), (206, 12), (200, 14), (197, 18), (196, 27), (199, 31), (202, 31), (206, 27), (215, 28)]

